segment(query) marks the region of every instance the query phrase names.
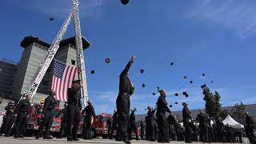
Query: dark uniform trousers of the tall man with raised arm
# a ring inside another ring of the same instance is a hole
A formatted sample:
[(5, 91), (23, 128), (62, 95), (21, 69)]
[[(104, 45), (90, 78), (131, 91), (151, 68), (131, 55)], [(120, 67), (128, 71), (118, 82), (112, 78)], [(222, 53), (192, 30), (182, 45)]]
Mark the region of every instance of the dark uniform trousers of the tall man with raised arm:
[(118, 112), (118, 134), (123, 141), (128, 140), (128, 122), (130, 117), (130, 95), (118, 94), (116, 101)]

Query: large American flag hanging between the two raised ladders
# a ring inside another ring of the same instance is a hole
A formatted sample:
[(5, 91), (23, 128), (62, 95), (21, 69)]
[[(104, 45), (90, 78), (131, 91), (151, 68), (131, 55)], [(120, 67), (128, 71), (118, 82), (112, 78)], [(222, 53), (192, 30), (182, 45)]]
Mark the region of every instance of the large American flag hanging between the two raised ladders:
[(54, 59), (54, 76), (51, 90), (55, 90), (55, 98), (59, 101), (67, 101), (67, 89), (71, 87), (77, 74), (78, 67), (72, 67)]

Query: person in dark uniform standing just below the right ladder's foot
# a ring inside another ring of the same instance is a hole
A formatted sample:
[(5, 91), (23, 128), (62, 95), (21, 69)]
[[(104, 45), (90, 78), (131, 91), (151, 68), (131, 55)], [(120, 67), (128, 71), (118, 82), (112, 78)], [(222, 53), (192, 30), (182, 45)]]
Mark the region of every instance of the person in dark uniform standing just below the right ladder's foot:
[[(94, 106), (91, 101), (87, 102), (87, 106), (84, 110), (82, 110), (82, 115), (86, 113), (86, 118), (84, 120), (84, 123), (86, 124), (84, 134), (83, 134), (83, 139), (92, 139), (90, 135), (91, 131), (91, 124), (92, 122), (96, 122), (96, 115), (94, 111)], [(93, 119), (92, 119), (93, 118)]]

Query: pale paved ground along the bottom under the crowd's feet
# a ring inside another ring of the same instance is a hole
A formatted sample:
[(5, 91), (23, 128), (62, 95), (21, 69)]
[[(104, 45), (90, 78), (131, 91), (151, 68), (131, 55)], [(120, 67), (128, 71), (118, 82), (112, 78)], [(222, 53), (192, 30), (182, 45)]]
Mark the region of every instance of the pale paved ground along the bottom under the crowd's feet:
[[(66, 139), (62, 138), (62, 139), (52, 139), (52, 140), (44, 140), (44, 139), (40, 139), (40, 140), (35, 140), (34, 138), (5, 138), (5, 137), (0, 137), (0, 143), (1, 144), (67, 144), (67, 143), (92, 143), (92, 144), (97, 144), (97, 143), (108, 143), (108, 144), (115, 144), (115, 143), (122, 143), (122, 142), (115, 142), (109, 139), (101, 139), (101, 138), (95, 138), (94, 140), (83, 140), (80, 139), (80, 141), (78, 142), (67, 142)], [(146, 141), (136, 141), (133, 140), (132, 143), (157, 143), (157, 142), (146, 142)], [(185, 144), (185, 142), (170, 142), (172, 144)], [(195, 143), (195, 142), (194, 142)], [(197, 142), (200, 143), (200, 142)], [(197, 144), (196, 143), (196, 144)]]

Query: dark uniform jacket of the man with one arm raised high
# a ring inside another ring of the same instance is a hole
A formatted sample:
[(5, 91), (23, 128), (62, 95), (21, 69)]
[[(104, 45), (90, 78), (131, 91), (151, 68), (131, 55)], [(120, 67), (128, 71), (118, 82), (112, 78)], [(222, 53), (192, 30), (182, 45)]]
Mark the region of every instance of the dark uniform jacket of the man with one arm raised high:
[(133, 60), (130, 60), (128, 64), (126, 65), (125, 70), (122, 70), (122, 73), (120, 74), (120, 84), (119, 84), (119, 94), (133, 94), (134, 93), (134, 86), (130, 82), (130, 79), (127, 76), (128, 71), (130, 70), (130, 66), (133, 63)]

